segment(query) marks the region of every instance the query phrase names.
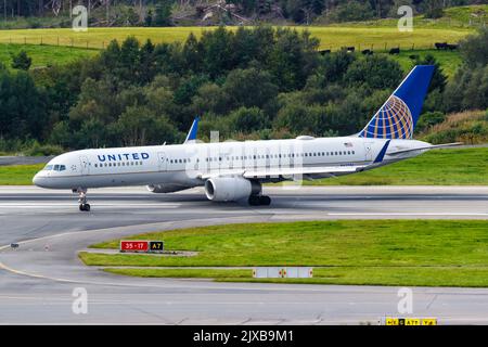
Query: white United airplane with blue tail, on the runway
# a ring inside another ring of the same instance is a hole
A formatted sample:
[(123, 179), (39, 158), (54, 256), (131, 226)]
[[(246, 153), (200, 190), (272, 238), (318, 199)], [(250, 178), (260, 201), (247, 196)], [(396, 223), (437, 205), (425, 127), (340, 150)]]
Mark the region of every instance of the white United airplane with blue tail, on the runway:
[(81, 211), (90, 210), (88, 189), (126, 185), (146, 185), (153, 193), (204, 187), (209, 201), (267, 206), (267, 182), (350, 175), (461, 144), (412, 139), (433, 73), (433, 65), (414, 66), (352, 136), (202, 143), (196, 140), (196, 118), (182, 144), (68, 152), (51, 159), (33, 182), (78, 193)]

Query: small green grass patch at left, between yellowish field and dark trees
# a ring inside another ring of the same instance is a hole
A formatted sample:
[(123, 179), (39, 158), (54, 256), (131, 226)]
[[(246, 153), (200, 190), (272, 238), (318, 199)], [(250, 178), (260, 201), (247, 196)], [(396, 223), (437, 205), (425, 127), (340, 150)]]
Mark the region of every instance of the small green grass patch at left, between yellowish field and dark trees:
[(26, 51), (28, 56), (33, 59), (31, 68), (44, 67), (52, 64), (62, 65), (99, 53), (97, 50), (69, 47), (0, 43), (0, 63), (3, 63), (11, 69), (12, 55), (17, 54), (22, 50)]

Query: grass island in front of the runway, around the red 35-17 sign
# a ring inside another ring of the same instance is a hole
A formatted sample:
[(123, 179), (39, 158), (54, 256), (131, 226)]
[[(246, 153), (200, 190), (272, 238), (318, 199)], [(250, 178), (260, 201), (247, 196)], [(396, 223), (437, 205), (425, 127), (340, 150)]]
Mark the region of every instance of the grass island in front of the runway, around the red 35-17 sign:
[[(217, 278), (220, 281), (255, 281), (245, 270), (222, 269), (222, 272), (214, 275), (208, 271), (218, 269), (195, 270), (184, 267), (313, 266), (317, 268), (312, 280), (269, 281), (488, 286), (487, 231), (486, 221), (481, 220), (346, 220), (232, 224), (133, 236), (139, 240), (164, 240), (167, 249), (198, 252), (194, 257), (89, 253), (80, 253), (79, 257), (89, 266), (149, 267), (108, 269), (113, 273), (141, 277), (198, 277), (201, 271), (203, 277)], [(94, 245), (99, 248), (117, 246), (118, 240)], [(179, 271), (182, 271), (181, 274), (178, 274)]]

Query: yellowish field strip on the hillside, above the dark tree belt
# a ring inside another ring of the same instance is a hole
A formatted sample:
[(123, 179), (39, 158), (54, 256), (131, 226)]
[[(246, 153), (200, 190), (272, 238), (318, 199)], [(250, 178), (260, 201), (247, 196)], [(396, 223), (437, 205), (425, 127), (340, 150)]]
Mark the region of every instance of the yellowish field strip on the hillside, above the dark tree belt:
[[(228, 27), (235, 29), (236, 27)], [(400, 47), (403, 49), (433, 48), (434, 42), (458, 42), (472, 29), (460, 28), (415, 28), (413, 33), (399, 33), (397, 27), (295, 27), (298, 30), (308, 29), (313, 37), (320, 39), (323, 49), (337, 50), (344, 46), (357, 48), (373, 48), (375, 50)], [(141, 41), (151, 39), (153, 42), (184, 41), (190, 33), (200, 37), (203, 30), (213, 30), (215, 27), (166, 27), (166, 28), (90, 28), (87, 33), (75, 33), (72, 29), (21, 29), (0, 30), (0, 43), (31, 43), (103, 49), (117, 39), (124, 40), (134, 36)], [(360, 47), (359, 47), (360, 46)]]

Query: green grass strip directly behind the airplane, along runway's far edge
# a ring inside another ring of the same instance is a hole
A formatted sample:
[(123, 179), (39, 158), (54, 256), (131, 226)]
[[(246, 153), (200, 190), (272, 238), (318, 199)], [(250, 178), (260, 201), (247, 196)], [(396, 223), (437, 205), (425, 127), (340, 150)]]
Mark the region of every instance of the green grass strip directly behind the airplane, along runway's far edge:
[[(487, 185), (488, 147), (438, 150), (413, 159), (307, 185)], [(462, 163), (462, 165), (461, 165)], [(0, 166), (0, 185), (28, 185), (40, 165)]]

